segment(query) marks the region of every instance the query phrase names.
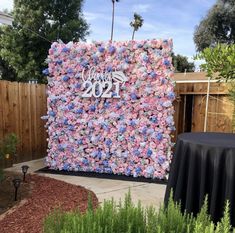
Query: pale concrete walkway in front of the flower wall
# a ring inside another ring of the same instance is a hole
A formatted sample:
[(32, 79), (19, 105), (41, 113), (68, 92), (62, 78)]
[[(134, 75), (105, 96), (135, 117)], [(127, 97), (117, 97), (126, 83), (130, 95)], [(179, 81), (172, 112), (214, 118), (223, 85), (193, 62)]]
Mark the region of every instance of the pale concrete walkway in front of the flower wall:
[[(13, 165), (11, 168), (5, 169), (6, 171), (21, 172), (21, 166), (27, 164), (29, 172), (45, 167), (44, 160), (33, 160), (25, 163), (19, 163)], [(54, 179), (62, 180), (71, 184), (83, 186), (89, 190), (92, 190), (98, 197), (100, 202), (104, 199), (111, 199), (119, 201), (123, 200), (128, 190), (131, 190), (131, 196), (134, 203), (138, 203), (138, 200), (144, 206), (153, 205), (157, 208), (163, 203), (166, 185), (163, 184), (150, 184), (133, 181), (122, 180), (109, 180), (91, 177), (79, 177), (79, 176), (64, 176), (54, 175), (46, 173), (37, 173), (41, 176), (47, 176)]]

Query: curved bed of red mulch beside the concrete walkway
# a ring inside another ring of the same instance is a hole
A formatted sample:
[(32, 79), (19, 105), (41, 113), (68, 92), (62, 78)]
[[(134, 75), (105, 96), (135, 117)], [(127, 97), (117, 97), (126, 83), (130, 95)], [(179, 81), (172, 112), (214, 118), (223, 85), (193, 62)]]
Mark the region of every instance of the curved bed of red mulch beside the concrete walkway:
[(25, 204), (0, 220), (1, 233), (41, 233), (43, 219), (55, 208), (64, 211), (79, 208), (84, 212), (88, 193), (93, 206), (98, 205), (95, 194), (83, 187), (38, 175), (28, 175), (27, 181), (33, 184), (32, 194)]

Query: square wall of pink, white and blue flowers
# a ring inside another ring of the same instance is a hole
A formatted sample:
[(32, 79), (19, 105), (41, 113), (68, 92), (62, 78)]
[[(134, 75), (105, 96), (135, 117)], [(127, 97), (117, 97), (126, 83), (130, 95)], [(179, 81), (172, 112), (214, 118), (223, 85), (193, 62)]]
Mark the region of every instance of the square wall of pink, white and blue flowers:
[(47, 166), (165, 178), (174, 130), (171, 51), (171, 40), (53, 43), (44, 70)]

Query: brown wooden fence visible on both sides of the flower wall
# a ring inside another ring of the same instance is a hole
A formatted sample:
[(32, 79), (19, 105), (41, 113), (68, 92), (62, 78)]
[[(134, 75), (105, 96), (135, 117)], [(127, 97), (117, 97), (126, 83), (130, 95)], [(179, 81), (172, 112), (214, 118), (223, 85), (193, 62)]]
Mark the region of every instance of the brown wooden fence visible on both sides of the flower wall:
[[(182, 132), (203, 131), (207, 79), (204, 73), (175, 74), (175, 139)], [(233, 104), (228, 99), (228, 84), (211, 83), (207, 131), (232, 132)], [(11, 166), (46, 155), (46, 86), (0, 81), (0, 139), (8, 133), (18, 135), (20, 143), (14, 160), (1, 161)]]

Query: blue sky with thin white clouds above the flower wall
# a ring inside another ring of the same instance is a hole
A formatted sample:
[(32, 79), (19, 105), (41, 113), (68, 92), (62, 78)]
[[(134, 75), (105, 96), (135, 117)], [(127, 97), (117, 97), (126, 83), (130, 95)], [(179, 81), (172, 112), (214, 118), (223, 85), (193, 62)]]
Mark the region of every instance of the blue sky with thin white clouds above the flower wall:
[[(0, 10), (12, 9), (13, 0), (1, 0)], [(130, 21), (133, 13), (144, 18), (136, 39), (173, 38), (174, 52), (191, 57), (195, 54), (195, 26), (216, 0), (120, 0), (116, 4), (114, 40), (131, 39)], [(91, 40), (109, 40), (111, 0), (85, 0), (83, 13), (90, 24)]]

